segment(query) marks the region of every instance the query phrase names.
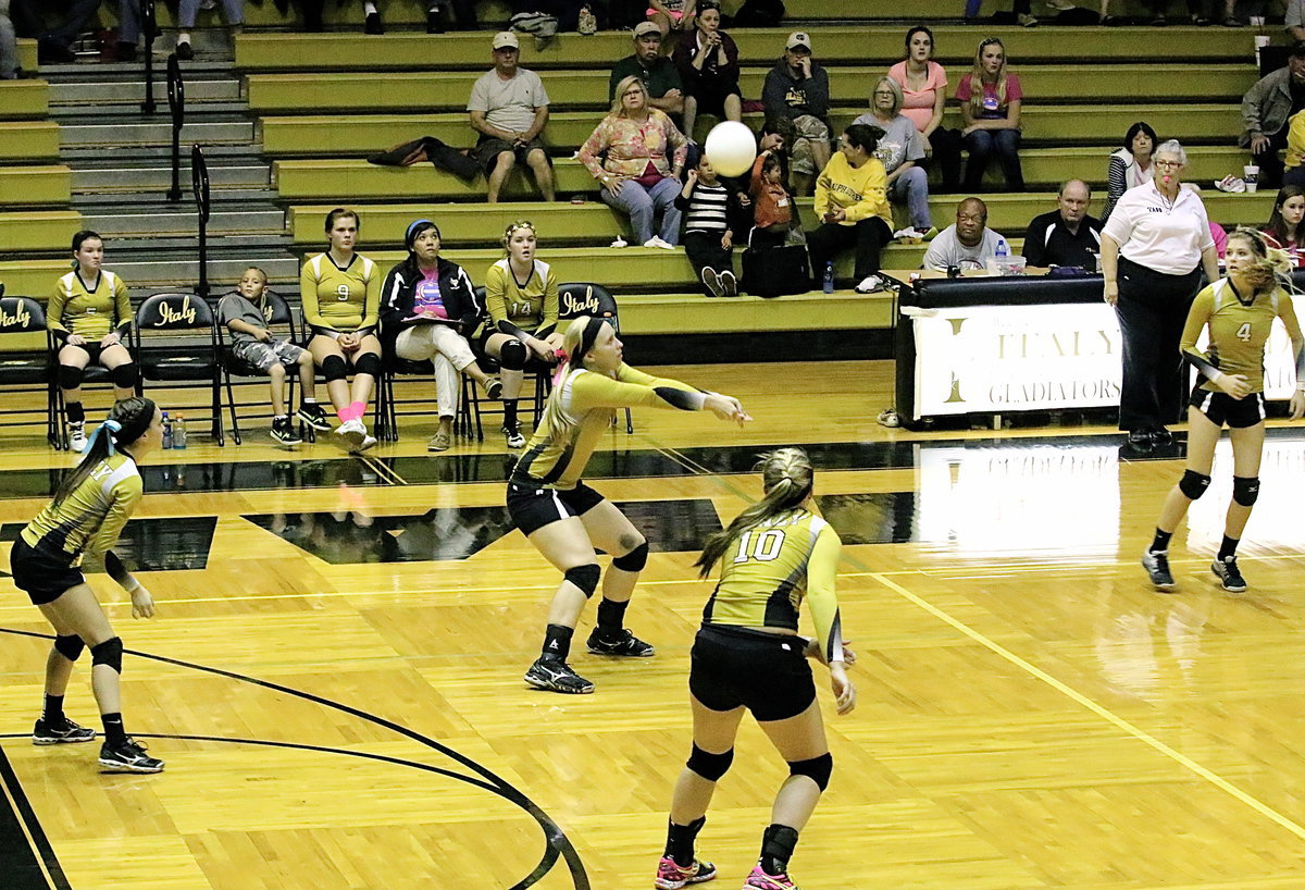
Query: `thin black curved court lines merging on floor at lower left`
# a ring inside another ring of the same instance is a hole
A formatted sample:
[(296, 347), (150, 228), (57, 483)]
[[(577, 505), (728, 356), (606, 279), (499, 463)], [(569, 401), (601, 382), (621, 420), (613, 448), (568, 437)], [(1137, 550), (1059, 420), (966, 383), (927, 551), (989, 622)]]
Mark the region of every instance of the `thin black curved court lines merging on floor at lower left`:
[[(0, 628), (0, 633), (12, 634), (12, 636), (16, 636), (16, 637), (33, 637), (35, 639), (50, 639), (50, 641), (54, 641), (54, 636), (52, 634), (37, 633), (37, 632), (33, 632), (33, 630), (18, 630), (18, 629), (14, 629), (14, 628)], [(376, 726), (380, 726), (380, 727), (384, 727), (386, 729), (390, 729), (392, 732), (395, 732), (395, 733), (398, 733), (398, 735), (401, 735), (401, 736), (403, 736), (406, 739), (411, 739), (412, 741), (416, 741), (416, 743), (419, 743), (422, 745), (425, 745), (427, 748), (431, 748), (433, 750), (440, 752), (441, 754), (444, 754), (449, 760), (452, 760), (452, 761), (454, 761), (454, 762), (465, 766), (466, 769), (468, 769), (472, 773), (475, 773), (479, 776), (482, 776), (484, 779), (484, 782), (478, 782), (478, 780), (471, 779), (468, 776), (459, 775), (457, 773), (452, 773), (449, 770), (444, 770), (444, 769), (440, 769), (440, 767), (429, 766), (429, 765), (425, 765), (425, 763), (415, 763), (415, 762), (410, 762), (410, 761), (402, 761), (399, 758), (392, 758), (392, 757), (386, 757), (386, 756), (382, 756), (382, 754), (368, 754), (365, 752), (347, 752), (347, 750), (338, 750), (338, 749), (317, 748), (315, 745), (303, 745), (303, 744), (294, 744), (294, 743), (273, 743), (273, 741), (260, 741), (260, 740), (243, 740), (243, 741), (245, 741), (245, 744), (254, 744), (254, 745), (284, 745), (284, 746), (288, 746), (288, 748), (301, 748), (301, 749), (305, 749), (305, 750), (322, 750), (322, 752), (334, 750), (335, 753), (354, 754), (354, 756), (358, 756), (358, 757), (367, 757), (367, 758), (371, 758), (371, 760), (386, 761), (386, 762), (392, 762), (392, 763), (397, 763), (397, 765), (412, 766), (415, 769), (423, 769), (423, 770), (428, 770), (428, 771), (432, 771), (432, 773), (438, 773), (441, 775), (445, 775), (445, 776), (449, 776), (449, 778), (453, 778), (453, 779), (458, 779), (461, 782), (467, 782), (468, 784), (474, 784), (476, 787), (484, 788), (485, 791), (496, 793), (500, 797), (502, 797), (504, 800), (508, 800), (508, 801), (515, 804), (517, 806), (519, 806), (521, 809), (523, 809), (531, 818), (534, 818), (535, 822), (539, 825), (540, 830), (544, 833), (544, 840), (545, 840), (545, 844), (547, 844), (545, 848), (544, 848), (543, 857), (539, 860), (539, 864), (535, 865), (535, 868), (531, 870), (531, 873), (527, 874), (526, 877), (523, 877), (517, 883), (513, 883), (506, 890), (527, 890), (527, 887), (534, 886), (545, 874), (548, 874), (552, 870), (552, 868), (553, 868), (553, 865), (556, 865), (559, 857), (562, 859), (566, 863), (566, 868), (570, 872), (572, 883), (574, 885), (576, 890), (592, 890), (592, 887), (590, 886), (590, 882), (589, 882), (589, 874), (585, 872), (585, 864), (581, 861), (579, 853), (576, 851), (574, 844), (572, 844), (570, 839), (566, 838), (566, 834), (561, 830), (561, 827), (547, 813), (544, 813), (544, 810), (540, 809), (536, 803), (534, 803), (532, 800), (530, 800), (530, 797), (527, 797), (525, 793), (522, 793), (519, 790), (517, 790), (506, 779), (499, 776), (497, 774), (495, 774), (493, 771), (491, 771), (488, 767), (482, 766), (480, 763), (476, 763), (470, 757), (458, 753), (453, 748), (449, 748), (448, 745), (442, 745), (438, 741), (436, 741), (436, 740), (433, 740), (433, 739), (431, 739), (428, 736), (423, 736), (422, 733), (419, 733), (419, 732), (416, 732), (414, 729), (410, 729), (410, 728), (407, 728), (405, 726), (401, 726), (401, 724), (394, 723), (392, 720), (386, 720), (382, 716), (377, 716), (376, 714), (369, 714), (367, 711), (359, 710), (359, 709), (352, 707), (350, 705), (345, 705), (342, 702), (331, 701), (329, 698), (322, 698), (321, 696), (315, 696), (313, 693), (309, 693), (309, 692), (303, 692), (301, 689), (294, 689), (291, 686), (283, 686), (279, 683), (271, 683), (269, 680), (260, 680), (257, 677), (245, 676), (243, 673), (235, 673), (232, 671), (226, 671), (223, 668), (210, 667), (207, 664), (196, 664), (194, 662), (183, 662), (180, 659), (168, 658), (166, 655), (155, 655), (153, 652), (142, 652), (142, 651), (133, 650), (133, 649), (125, 649), (123, 651), (127, 655), (134, 655), (137, 658), (145, 658), (145, 659), (150, 659), (150, 660), (154, 660), (154, 662), (161, 662), (163, 664), (172, 664), (175, 667), (184, 667), (184, 668), (189, 668), (192, 671), (202, 671), (205, 673), (213, 673), (213, 675), (217, 675), (217, 676), (221, 676), (221, 677), (227, 677), (228, 680), (236, 680), (239, 683), (248, 683), (248, 684), (254, 685), (254, 686), (262, 686), (264, 689), (271, 689), (274, 692), (284, 693), (287, 696), (294, 696), (296, 698), (303, 698), (304, 701), (311, 701), (311, 702), (313, 702), (316, 705), (321, 705), (324, 707), (330, 707), (330, 709), (334, 709), (334, 710), (341, 711), (343, 714), (348, 714), (350, 716), (356, 716), (356, 718), (359, 718), (361, 720), (367, 720), (368, 723), (375, 723)], [(147, 733), (138, 733), (138, 735), (141, 737), (154, 737), (154, 739), (197, 739), (197, 740), (209, 739), (211, 741), (230, 741), (228, 739), (221, 739), (221, 737), (215, 737), (215, 736), (214, 737), (209, 737), (209, 736), (164, 736), (164, 735), (147, 735)], [(42, 836), (44, 836), (44, 835), (42, 835)], [(0, 874), (4, 874), (4, 872), (0, 872)], [(7, 883), (3, 885), (3, 886), (4, 886), (4, 890), (9, 890), (9, 886)], [(48, 885), (40, 885), (40, 886), (42, 886), (42, 890), (48, 890)], [(57, 890), (70, 890), (70, 887), (68, 887), (67, 881), (65, 881), (64, 885), (61, 885)]]

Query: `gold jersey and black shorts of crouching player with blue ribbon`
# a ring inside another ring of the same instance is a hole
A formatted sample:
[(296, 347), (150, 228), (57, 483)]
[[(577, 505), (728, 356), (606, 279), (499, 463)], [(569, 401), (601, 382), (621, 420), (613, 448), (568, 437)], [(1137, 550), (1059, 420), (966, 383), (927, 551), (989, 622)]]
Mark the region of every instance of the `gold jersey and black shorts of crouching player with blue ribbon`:
[(14, 583), (37, 606), (54, 602), (85, 582), (81, 564), (90, 553), (102, 557), (125, 586), (129, 575), (112, 547), (142, 493), (136, 461), (128, 454), (100, 461), (61, 502), (47, 504), (20, 532), (9, 557)]

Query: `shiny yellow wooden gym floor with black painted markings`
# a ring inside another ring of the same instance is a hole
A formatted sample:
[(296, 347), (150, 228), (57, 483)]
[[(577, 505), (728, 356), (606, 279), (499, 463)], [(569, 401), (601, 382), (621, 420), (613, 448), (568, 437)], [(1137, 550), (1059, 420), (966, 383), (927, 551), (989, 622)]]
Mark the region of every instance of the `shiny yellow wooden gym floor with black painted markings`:
[[(589, 697), (521, 680), (559, 575), (505, 525), (496, 436), (428, 457), (408, 420), (358, 461), (274, 448), (260, 419), (243, 446), (159, 454), (124, 535), (158, 616), (91, 582), (129, 650), (128, 729), (167, 770), (100, 775), (94, 745), (30, 744), (48, 628), (0, 578), (0, 886), (650, 887), (689, 750), (697, 543), (756, 495), (761, 446), (800, 442), (825, 468), (860, 652), (860, 706), (826, 710), (835, 773), (803, 887), (1305, 887), (1300, 427), (1266, 446), (1250, 591), (1207, 568), (1221, 452), (1160, 595), (1138, 556), (1181, 446), (883, 429), (890, 363), (673, 373), (756, 423), (636, 411), (595, 458), (590, 480), (652, 542), (629, 624), (658, 655), (574, 655)], [(12, 542), (67, 458), (3, 445)], [(85, 662), (68, 711), (98, 726)], [(784, 775), (745, 723), (701, 836), (711, 886), (741, 885)]]

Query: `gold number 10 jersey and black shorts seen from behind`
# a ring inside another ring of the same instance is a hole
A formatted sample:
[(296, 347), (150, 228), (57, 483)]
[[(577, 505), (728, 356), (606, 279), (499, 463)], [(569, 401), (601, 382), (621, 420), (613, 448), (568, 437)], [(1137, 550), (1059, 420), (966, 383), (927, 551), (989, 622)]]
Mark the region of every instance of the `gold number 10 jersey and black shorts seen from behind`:
[(805, 600), (825, 660), (842, 660), (834, 592), (842, 548), (825, 519), (800, 508), (739, 535), (722, 559), (693, 643), (694, 698), (714, 711), (745, 706), (762, 722), (796, 716), (816, 701), (804, 638), (762, 628), (796, 632)]

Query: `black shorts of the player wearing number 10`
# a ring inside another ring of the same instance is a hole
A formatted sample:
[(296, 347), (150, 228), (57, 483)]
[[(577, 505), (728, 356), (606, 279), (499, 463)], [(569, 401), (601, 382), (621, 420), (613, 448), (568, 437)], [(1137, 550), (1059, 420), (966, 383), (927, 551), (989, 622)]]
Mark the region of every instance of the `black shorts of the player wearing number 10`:
[(743, 705), (761, 723), (797, 716), (816, 701), (801, 637), (705, 624), (690, 651), (689, 692), (713, 711)]

